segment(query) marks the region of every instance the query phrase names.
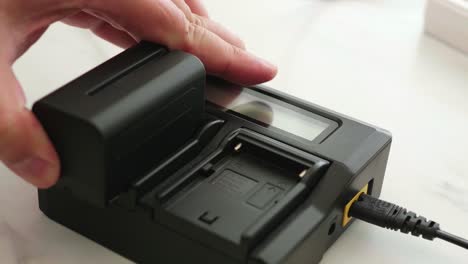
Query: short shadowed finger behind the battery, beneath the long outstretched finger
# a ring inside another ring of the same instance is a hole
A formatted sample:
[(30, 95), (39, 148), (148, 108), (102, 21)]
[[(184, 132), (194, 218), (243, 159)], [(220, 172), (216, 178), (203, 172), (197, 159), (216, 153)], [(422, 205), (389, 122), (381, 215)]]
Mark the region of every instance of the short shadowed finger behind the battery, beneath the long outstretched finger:
[(86, 12), (79, 12), (73, 16), (69, 16), (63, 19), (62, 22), (71, 26), (89, 29), (98, 37), (124, 49), (137, 43), (127, 32), (117, 29), (101, 18)]

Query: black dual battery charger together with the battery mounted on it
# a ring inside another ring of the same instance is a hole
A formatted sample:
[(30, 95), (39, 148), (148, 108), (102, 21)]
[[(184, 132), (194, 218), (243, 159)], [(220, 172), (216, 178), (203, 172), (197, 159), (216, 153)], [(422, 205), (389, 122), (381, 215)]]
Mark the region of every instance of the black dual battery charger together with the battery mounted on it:
[(40, 209), (138, 263), (318, 263), (356, 193), (380, 195), (391, 144), (146, 42), (33, 111), (62, 163)]

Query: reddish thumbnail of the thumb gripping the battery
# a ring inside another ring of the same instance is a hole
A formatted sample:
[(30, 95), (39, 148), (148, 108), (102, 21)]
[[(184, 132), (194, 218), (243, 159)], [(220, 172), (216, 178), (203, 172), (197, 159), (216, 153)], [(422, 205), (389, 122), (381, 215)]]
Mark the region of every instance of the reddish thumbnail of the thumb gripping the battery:
[(18, 176), (37, 187), (46, 188), (53, 184), (53, 175), (51, 175), (53, 166), (42, 158), (27, 158), (8, 167)]

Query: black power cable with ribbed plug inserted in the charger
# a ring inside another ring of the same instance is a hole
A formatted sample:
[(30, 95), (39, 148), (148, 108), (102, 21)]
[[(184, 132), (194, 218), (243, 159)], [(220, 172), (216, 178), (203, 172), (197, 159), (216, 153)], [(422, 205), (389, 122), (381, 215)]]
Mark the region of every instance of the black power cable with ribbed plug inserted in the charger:
[(443, 239), (468, 249), (468, 240), (441, 230), (438, 223), (367, 194), (361, 194), (358, 200), (351, 205), (349, 216), (383, 228), (400, 230), (402, 233), (411, 233), (418, 237), (422, 236), (427, 240)]

